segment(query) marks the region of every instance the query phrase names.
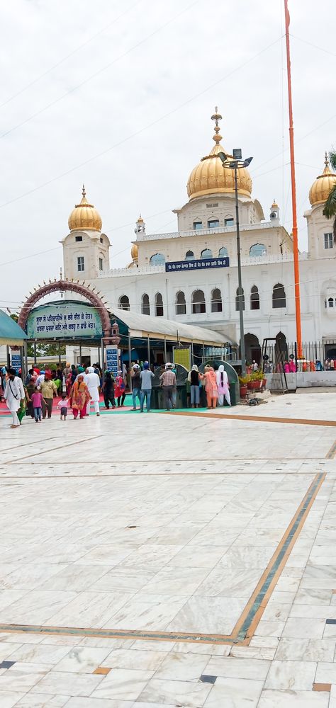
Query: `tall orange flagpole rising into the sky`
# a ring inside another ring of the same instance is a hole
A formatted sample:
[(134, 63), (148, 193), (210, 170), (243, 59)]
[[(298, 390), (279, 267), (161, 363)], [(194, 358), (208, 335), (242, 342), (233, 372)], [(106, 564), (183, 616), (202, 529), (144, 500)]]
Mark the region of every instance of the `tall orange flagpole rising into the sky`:
[(289, 8), (288, 0), (285, 3), (285, 23), (286, 23), (286, 53), (287, 53), (287, 83), (289, 90), (289, 147), (291, 151), (291, 205), (293, 216), (293, 251), (294, 251), (294, 287), (295, 287), (295, 316), (296, 316), (296, 343), (298, 346), (298, 358), (302, 358), (302, 334), (301, 334), (301, 306), (300, 306), (300, 275), (298, 269), (298, 221), (296, 216), (296, 184), (295, 184), (295, 161), (294, 161), (294, 129), (293, 129), (293, 104), (291, 99), (291, 54), (289, 48)]

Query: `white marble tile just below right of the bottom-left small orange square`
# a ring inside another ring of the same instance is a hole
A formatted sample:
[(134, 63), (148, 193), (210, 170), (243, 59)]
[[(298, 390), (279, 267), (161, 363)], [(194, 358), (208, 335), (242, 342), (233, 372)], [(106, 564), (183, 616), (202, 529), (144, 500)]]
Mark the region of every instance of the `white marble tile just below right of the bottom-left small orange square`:
[(136, 701), (152, 674), (152, 671), (137, 669), (113, 669), (103, 678), (91, 697)]

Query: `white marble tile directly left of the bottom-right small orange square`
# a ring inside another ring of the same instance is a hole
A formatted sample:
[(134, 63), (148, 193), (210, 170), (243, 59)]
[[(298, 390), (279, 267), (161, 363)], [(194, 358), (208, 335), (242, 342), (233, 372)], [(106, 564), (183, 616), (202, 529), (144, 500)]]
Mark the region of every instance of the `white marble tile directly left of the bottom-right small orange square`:
[(312, 689), (315, 671), (313, 661), (273, 661), (264, 687), (308, 691)]

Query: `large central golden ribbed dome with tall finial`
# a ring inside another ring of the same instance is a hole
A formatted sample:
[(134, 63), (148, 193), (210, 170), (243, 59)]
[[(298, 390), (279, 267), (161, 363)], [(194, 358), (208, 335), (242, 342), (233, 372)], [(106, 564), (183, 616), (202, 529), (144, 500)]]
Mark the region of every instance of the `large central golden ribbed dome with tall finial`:
[[(219, 135), (218, 120), (222, 116), (218, 113), (217, 106), (215, 113), (211, 116), (211, 120), (215, 120), (215, 135), (213, 140), (215, 146), (210, 154), (202, 157), (201, 161), (194, 167), (189, 176), (186, 190), (189, 200), (201, 197), (205, 194), (234, 194), (235, 193), (235, 171), (230, 167), (223, 167), (218, 152), (225, 152), (225, 149), (220, 144), (222, 136)], [(233, 159), (232, 155), (228, 155), (229, 159)], [(251, 196), (252, 179), (246, 167), (237, 170), (238, 193)]]

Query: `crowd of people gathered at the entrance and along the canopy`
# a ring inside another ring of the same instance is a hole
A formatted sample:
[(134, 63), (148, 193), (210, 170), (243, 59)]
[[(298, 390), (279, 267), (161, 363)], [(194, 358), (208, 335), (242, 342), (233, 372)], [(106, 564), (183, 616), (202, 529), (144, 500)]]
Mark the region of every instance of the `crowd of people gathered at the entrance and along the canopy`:
[[(152, 399), (152, 380), (155, 372), (150, 363), (131, 362), (130, 372), (125, 365), (118, 370), (116, 376), (112, 372), (102, 372), (99, 364), (84, 368), (67, 363), (65, 367), (51, 370), (47, 367), (40, 370), (33, 367), (28, 370), (26, 378), (22, 379), (11, 367), (0, 370), (0, 401), (4, 397), (6, 405), (12, 414), (11, 428), (18, 428), (24, 416), (30, 416), (35, 423), (50, 419), (54, 401), (60, 412), (60, 420), (67, 420), (67, 412), (72, 410), (76, 420), (89, 416), (91, 404), (94, 413), (100, 416), (99, 400), (103, 396), (105, 409), (121, 408), (125, 403), (126, 388), (132, 394), (133, 407), (131, 411), (150, 412)], [(202, 391), (206, 394), (208, 409), (223, 405), (224, 400), (230, 406), (230, 388), (228, 375), (223, 365), (217, 371), (212, 366), (206, 366), (204, 372), (198, 371), (196, 364), (189, 371), (186, 379), (187, 406), (198, 408), (201, 405)], [(167, 362), (159, 371), (159, 386), (162, 387), (164, 407), (167, 411), (177, 405), (177, 367)], [(137, 408), (138, 403), (138, 408)]]

